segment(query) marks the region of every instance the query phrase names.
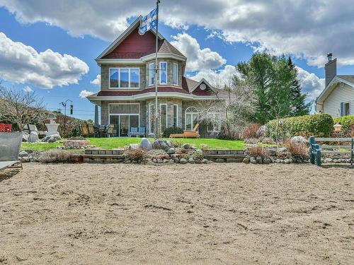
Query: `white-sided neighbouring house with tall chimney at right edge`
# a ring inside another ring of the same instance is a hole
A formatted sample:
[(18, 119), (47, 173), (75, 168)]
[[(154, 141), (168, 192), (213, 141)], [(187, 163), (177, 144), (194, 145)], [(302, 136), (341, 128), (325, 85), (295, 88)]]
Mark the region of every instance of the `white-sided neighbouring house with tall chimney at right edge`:
[(337, 59), (327, 54), (325, 88), (316, 99), (316, 111), (332, 117), (354, 114), (354, 75), (338, 76)]

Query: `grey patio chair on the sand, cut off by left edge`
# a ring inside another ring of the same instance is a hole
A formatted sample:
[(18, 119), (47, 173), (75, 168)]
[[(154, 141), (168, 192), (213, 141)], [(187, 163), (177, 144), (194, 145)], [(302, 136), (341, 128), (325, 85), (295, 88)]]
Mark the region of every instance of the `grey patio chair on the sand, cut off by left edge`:
[(6, 168), (22, 168), (18, 160), (23, 132), (0, 133), (0, 171)]

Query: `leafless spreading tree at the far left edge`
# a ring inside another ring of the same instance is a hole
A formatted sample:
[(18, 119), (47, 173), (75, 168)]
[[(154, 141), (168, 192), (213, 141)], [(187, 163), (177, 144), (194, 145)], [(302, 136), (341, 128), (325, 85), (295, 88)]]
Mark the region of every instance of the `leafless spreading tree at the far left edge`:
[(45, 111), (42, 98), (33, 91), (0, 86), (0, 101), (0, 119), (17, 124), (20, 131), (31, 120), (42, 117)]

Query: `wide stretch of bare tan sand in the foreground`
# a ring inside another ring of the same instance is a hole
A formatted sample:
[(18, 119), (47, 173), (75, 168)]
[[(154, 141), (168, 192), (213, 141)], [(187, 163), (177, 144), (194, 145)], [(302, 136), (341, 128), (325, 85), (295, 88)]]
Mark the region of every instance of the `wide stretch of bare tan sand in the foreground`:
[(353, 206), (348, 166), (28, 163), (0, 264), (354, 264)]

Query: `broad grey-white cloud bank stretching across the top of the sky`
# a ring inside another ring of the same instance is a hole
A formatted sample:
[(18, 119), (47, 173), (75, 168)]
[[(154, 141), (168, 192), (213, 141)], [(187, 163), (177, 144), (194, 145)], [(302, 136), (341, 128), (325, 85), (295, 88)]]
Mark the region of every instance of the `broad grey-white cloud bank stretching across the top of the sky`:
[[(0, 0), (21, 23), (42, 21), (72, 36), (113, 40), (127, 28), (127, 18), (152, 10), (149, 1)], [(338, 64), (354, 64), (354, 5), (350, 0), (180, 0), (161, 3), (159, 18), (173, 28), (198, 25), (210, 37), (244, 42), (256, 51), (292, 54), (312, 66), (323, 66), (333, 52)], [(95, 18), (95, 23), (92, 23)], [(217, 33), (217, 34), (215, 34)]]

